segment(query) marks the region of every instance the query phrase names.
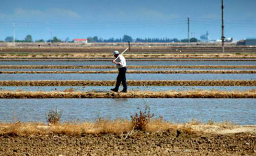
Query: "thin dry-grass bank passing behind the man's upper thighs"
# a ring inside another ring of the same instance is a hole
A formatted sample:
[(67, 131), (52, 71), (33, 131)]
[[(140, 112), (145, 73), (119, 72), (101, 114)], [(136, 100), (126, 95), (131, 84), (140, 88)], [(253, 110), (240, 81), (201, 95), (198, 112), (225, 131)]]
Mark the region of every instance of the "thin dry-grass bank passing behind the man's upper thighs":
[[(0, 74), (116, 74), (111, 71), (0, 71)], [(256, 70), (128, 70), (127, 74), (255, 74)]]

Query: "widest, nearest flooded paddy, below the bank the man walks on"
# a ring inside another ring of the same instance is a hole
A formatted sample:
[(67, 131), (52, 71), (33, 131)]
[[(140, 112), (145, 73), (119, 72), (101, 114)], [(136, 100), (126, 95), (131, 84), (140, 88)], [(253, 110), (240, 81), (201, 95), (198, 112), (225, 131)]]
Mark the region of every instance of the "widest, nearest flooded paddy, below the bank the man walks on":
[(173, 123), (229, 121), (240, 125), (256, 124), (255, 99), (1, 99), (0, 119), (3, 122), (46, 122), (45, 113), (58, 107), (62, 121), (95, 121), (130, 119), (130, 115), (150, 107), (155, 116)]

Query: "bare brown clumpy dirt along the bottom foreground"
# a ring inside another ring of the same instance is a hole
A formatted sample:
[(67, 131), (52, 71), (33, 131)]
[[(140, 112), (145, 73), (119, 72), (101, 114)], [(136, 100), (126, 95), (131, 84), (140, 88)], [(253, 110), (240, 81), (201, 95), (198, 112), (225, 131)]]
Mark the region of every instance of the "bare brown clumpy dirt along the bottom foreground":
[(256, 155), (256, 126), (185, 127), (133, 134), (2, 135), (0, 155)]

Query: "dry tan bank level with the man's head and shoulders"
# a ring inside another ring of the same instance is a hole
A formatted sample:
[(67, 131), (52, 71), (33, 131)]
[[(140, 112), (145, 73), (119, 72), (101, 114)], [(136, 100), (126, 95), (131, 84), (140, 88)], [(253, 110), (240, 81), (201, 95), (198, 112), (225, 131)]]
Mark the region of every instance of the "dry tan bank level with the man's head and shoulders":
[[(0, 59), (106, 59), (113, 58), (112, 53), (106, 54), (1, 54)], [(223, 58), (223, 59), (235, 59), (235, 58), (256, 58), (256, 55), (253, 53), (237, 53), (237, 54), (136, 54), (136, 53), (126, 53), (125, 58), (137, 58), (137, 59), (161, 59), (161, 58), (201, 58), (201, 59), (211, 59), (211, 58)]]

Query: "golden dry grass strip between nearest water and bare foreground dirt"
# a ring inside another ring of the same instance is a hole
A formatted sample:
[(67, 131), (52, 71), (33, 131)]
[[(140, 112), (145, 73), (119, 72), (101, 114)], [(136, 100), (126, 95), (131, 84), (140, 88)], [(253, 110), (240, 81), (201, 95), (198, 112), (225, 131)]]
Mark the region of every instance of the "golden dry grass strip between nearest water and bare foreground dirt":
[[(196, 121), (196, 120), (195, 120)], [(173, 124), (168, 121), (163, 121), (161, 118), (150, 120), (142, 129), (144, 132), (158, 133), (174, 129), (183, 131), (188, 134), (197, 132), (215, 132), (218, 133), (223, 129), (231, 129), (236, 125), (230, 122), (215, 123), (184, 123)], [(238, 126), (239, 127), (239, 126)], [(117, 134), (125, 139), (128, 135), (135, 134), (136, 130), (130, 120), (116, 119), (106, 120), (98, 119), (96, 122), (65, 122), (57, 125), (47, 125), (40, 122), (16, 122), (16, 123), (0, 123), (0, 137), (8, 136), (34, 136), (34, 135), (68, 135), (68, 136), (83, 136), (87, 134)], [(140, 130), (138, 130), (140, 131)], [(255, 132), (255, 129), (254, 129)]]

